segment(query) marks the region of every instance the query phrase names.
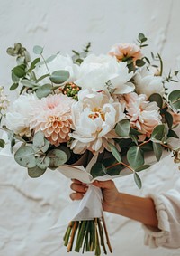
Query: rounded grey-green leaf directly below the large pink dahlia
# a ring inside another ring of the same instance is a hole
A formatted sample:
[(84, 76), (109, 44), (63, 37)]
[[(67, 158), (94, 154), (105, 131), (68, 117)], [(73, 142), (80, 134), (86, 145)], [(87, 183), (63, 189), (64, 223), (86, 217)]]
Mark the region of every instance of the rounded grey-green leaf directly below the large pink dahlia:
[(67, 159), (68, 159), (67, 154), (60, 149), (50, 150), (47, 156), (49, 156), (50, 158), (49, 166), (52, 166), (52, 167), (62, 166), (67, 162)]

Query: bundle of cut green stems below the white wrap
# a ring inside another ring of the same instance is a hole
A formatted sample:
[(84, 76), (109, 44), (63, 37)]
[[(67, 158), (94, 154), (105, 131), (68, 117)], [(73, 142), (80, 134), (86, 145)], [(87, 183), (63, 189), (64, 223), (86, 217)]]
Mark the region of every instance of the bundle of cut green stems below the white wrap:
[(76, 252), (82, 249), (82, 253), (94, 251), (95, 256), (100, 256), (101, 247), (103, 253), (107, 254), (105, 239), (109, 251), (112, 253), (104, 218), (94, 218), (94, 220), (70, 222), (64, 235), (64, 245), (67, 246), (67, 252), (69, 252), (73, 250), (73, 244), (76, 242)]

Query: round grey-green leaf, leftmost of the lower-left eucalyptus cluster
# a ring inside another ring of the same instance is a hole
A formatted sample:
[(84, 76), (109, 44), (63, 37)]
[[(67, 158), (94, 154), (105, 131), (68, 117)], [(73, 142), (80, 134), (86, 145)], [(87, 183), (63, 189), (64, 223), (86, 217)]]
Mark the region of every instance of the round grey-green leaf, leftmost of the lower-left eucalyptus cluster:
[(36, 166), (34, 150), (29, 146), (20, 147), (14, 155), (15, 161), (23, 167), (33, 168)]

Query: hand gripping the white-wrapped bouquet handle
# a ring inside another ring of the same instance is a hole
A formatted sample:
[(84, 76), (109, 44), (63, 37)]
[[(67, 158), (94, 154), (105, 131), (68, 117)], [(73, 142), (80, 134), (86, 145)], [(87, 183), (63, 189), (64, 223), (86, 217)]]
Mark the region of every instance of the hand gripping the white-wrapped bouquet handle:
[[(112, 180), (94, 181), (93, 185), (102, 189), (103, 211), (112, 212), (112, 209), (116, 204), (119, 196), (119, 192)], [(70, 198), (72, 200), (81, 200), (88, 189), (88, 185), (78, 180), (73, 180), (73, 183), (71, 184), (71, 189), (74, 190), (75, 193), (70, 194)]]

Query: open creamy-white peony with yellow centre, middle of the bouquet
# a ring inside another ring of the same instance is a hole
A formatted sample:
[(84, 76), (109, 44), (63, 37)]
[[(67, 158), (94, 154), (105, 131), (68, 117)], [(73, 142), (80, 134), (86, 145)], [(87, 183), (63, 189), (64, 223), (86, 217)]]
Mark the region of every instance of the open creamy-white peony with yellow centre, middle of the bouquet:
[(107, 142), (118, 137), (114, 126), (124, 119), (124, 105), (114, 101), (109, 93), (93, 90), (80, 90), (79, 101), (72, 106), (74, 131), (70, 134), (75, 140), (71, 144), (74, 153), (82, 154), (86, 149), (94, 154), (108, 149)]

